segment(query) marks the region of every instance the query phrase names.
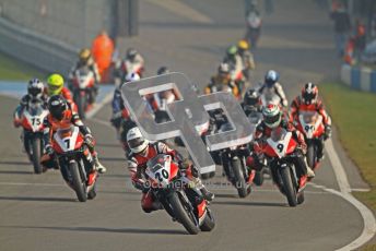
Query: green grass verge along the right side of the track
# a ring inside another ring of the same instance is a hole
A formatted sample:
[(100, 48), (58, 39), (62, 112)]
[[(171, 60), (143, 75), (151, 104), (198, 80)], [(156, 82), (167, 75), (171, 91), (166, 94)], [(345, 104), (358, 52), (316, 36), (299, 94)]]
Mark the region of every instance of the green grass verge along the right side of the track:
[[(344, 84), (320, 86), (325, 103), (348, 155), (369, 184), (369, 192), (353, 192), (376, 212), (376, 95), (351, 89)], [(376, 244), (363, 250), (376, 250)]]

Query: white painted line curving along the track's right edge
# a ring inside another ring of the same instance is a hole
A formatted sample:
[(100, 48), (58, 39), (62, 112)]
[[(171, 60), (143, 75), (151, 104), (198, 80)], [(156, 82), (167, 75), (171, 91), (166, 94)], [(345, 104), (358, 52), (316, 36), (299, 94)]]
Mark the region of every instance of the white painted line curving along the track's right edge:
[(348, 176), (334, 150), (334, 145), (331, 139), (326, 142), (326, 150), (328, 152), (331, 166), (333, 167), (337, 182), (338, 182), (338, 186), (340, 187), (340, 192), (332, 189), (326, 189), (326, 191), (333, 193), (338, 196), (341, 196), (342, 199), (350, 202), (352, 205), (356, 207), (356, 210), (361, 213), (363, 217), (364, 228), (363, 228), (362, 235), (357, 237), (355, 240), (353, 240), (351, 243), (342, 247), (341, 249), (338, 249), (338, 251), (354, 250), (354, 249), (360, 248), (367, 241), (369, 241), (376, 234), (375, 216), (368, 207), (366, 207), (362, 202), (357, 201), (351, 194), (351, 187), (348, 180)]

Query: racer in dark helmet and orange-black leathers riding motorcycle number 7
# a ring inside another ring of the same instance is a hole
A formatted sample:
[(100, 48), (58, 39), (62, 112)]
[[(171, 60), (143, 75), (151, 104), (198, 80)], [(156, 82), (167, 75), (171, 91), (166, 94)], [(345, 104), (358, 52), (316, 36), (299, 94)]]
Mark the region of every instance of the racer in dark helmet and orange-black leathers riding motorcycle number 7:
[(106, 172), (106, 167), (104, 167), (98, 160), (98, 156), (95, 151), (95, 140), (90, 128), (82, 122), (77, 111), (72, 109), (71, 104), (68, 103), (60, 95), (55, 95), (51, 96), (48, 100), (48, 110), (49, 115), (44, 120), (46, 155), (43, 157), (43, 162), (47, 163), (48, 160), (54, 159), (55, 153), (52, 146), (50, 145), (54, 133), (58, 129), (67, 129), (73, 124), (75, 127), (79, 127), (80, 133), (82, 133), (85, 138), (85, 144), (87, 145), (93, 156), (95, 169), (98, 170), (101, 174)]

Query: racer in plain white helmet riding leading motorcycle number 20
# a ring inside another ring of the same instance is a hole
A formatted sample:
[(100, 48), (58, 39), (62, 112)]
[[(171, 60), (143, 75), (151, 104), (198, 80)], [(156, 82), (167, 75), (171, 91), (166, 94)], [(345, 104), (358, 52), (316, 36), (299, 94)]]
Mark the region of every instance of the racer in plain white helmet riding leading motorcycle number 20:
[(145, 183), (145, 168), (149, 159), (158, 154), (167, 154), (179, 164), (180, 170), (191, 180), (197, 188), (200, 189), (203, 198), (208, 201), (214, 199), (214, 194), (209, 192), (198, 178), (199, 171), (188, 159), (183, 159), (180, 154), (169, 148), (162, 142), (150, 143), (142, 136), (139, 128), (132, 128), (128, 131), (127, 143), (131, 150), (128, 156), (128, 169), (131, 174), (132, 184), (136, 189), (142, 191), (141, 207), (145, 213), (158, 210), (158, 203), (153, 198), (150, 188)]

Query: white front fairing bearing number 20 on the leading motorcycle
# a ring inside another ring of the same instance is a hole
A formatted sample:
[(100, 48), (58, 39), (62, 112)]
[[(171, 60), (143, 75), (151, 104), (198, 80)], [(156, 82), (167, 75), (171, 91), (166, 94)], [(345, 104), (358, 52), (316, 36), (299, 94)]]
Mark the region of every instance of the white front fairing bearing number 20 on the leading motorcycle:
[(162, 188), (166, 188), (169, 184), (171, 162), (172, 157), (165, 155), (163, 164), (157, 164), (145, 170), (146, 175), (155, 180)]

